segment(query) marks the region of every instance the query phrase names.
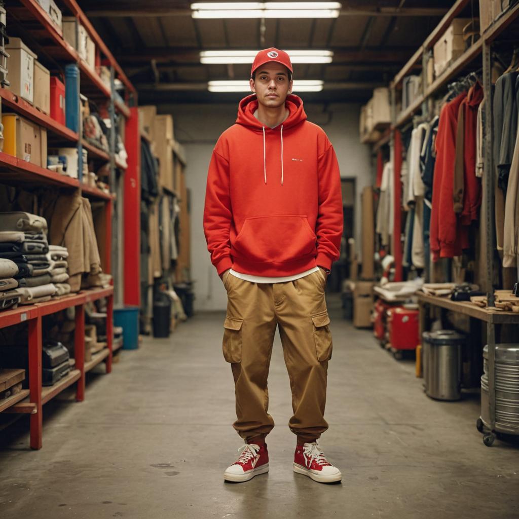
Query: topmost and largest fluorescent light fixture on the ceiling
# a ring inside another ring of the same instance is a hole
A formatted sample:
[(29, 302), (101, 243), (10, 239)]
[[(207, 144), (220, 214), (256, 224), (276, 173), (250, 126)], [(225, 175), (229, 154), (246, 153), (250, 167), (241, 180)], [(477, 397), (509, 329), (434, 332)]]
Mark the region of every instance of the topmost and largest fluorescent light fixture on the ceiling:
[(337, 18), (339, 2), (217, 2), (191, 4), (193, 18)]

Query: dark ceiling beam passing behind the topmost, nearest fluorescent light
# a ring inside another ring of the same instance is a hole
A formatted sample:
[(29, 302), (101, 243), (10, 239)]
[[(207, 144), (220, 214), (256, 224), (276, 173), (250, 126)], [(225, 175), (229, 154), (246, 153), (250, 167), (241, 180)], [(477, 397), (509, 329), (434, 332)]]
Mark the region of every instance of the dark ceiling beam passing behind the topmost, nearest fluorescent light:
[[(112, 2), (104, 5), (95, 6), (86, 10), (88, 18), (99, 18), (109, 16), (111, 18), (121, 18), (126, 16), (136, 17), (163, 17), (163, 16), (191, 16), (189, 8), (178, 7), (156, 7), (150, 3), (134, 2), (135, 5), (127, 7), (121, 5), (120, 8), (114, 7)], [(447, 8), (441, 7), (350, 7), (339, 11), (339, 16), (407, 16), (407, 17), (441, 17)]]

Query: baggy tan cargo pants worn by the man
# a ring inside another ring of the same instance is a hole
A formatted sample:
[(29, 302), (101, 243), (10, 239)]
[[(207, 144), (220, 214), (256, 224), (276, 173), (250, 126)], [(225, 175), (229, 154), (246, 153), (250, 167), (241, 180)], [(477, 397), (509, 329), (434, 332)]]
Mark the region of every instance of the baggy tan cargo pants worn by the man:
[(274, 427), (268, 414), (267, 377), (278, 324), (292, 389), (290, 430), (301, 443), (319, 438), (328, 428), (324, 407), (332, 334), (325, 282), (321, 270), (286, 283), (224, 277), (228, 302), (223, 353), (235, 381), (233, 427), (244, 440), (265, 436)]

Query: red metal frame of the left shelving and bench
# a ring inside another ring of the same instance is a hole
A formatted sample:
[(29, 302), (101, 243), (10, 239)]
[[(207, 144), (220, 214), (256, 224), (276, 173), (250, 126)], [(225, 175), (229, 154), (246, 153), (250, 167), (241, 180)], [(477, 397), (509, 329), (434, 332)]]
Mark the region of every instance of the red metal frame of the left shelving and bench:
[[(50, 132), (55, 141), (66, 142), (68, 145), (78, 147), (79, 156), (81, 156), (81, 148), (85, 147), (94, 160), (110, 162), (111, 177), (116, 167), (121, 169), (124, 175), (124, 183), (136, 183), (139, 189), (138, 196), (135, 196), (132, 190), (131, 203), (126, 199), (119, 199), (119, 204), (124, 206), (125, 211), (130, 215), (130, 222), (124, 219), (124, 227), (131, 225), (131, 232), (137, 237), (140, 235), (140, 146), (135, 143), (140, 142), (138, 131), (138, 113), (136, 91), (132, 84), (122, 71), (119, 64), (115, 61), (112, 53), (101, 40), (93, 26), (88, 21), (84, 12), (81, 11), (75, 0), (62, 0), (61, 6), (65, 7), (69, 13), (72, 13), (79, 22), (85, 27), (93, 42), (98, 49), (98, 60), (103, 56), (103, 62), (111, 67), (114, 71), (112, 77), (117, 77), (125, 85), (125, 103), (115, 100), (112, 89), (103, 83), (100, 76), (93, 70), (83, 59), (81, 59), (77, 51), (67, 43), (59, 30), (54, 26), (44, 9), (36, 2), (36, 0), (18, 0), (18, 5), (12, 3), (8, 6), (8, 17), (12, 17), (17, 23), (21, 24), (23, 32), (32, 37), (38, 43), (38, 52), (43, 53), (43, 57), (47, 56), (52, 62), (60, 62), (61, 64), (76, 63), (80, 72), (80, 90), (88, 94), (88, 97), (105, 103), (108, 105), (108, 111), (121, 114), (125, 117), (125, 136), (126, 147), (128, 149), (128, 168), (122, 168), (115, 160), (115, 146), (112, 146), (108, 152), (105, 152), (92, 144), (75, 131), (59, 124), (49, 116), (39, 112), (31, 104), (18, 98), (11, 91), (0, 89), (0, 98), (2, 98), (3, 107), (8, 111), (19, 113), (20, 115), (31, 119), (38, 125), (41, 125)], [(79, 106), (77, 107), (79, 112)], [(82, 132), (82, 129), (80, 129)], [(132, 149), (133, 148), (133, 149)], [(81, 169), (81, 168), (79, 168)], [(136, 179), (136, 180), (135, 180)], [(107, 273), (112, 271), (112, 215), (113, 204), (118, 200), (114, 193), (105, 193), (97, 187), (84, 184), (78, 179), (73, 179), (66, 175), (50, 171), (46, 168), (36, 166), (30, 162), (25, 162), (6, 153), (0, 153), (0, 183), (7, 185), (15, 185), (20, 187), (48, 186), (63, 190), (80, 190), (82, 196), (91, 200), (104, 203), (104, 239), (106, 255), (102, 258), (103, 270)], [(136, 215), (136, 219), (134, 217)], [(126, 263), (132, 263), (132, 258), (136, 258), (139, 262), (139, 242), (125, 242), (124, 253), (121, 254), (125, 258)], [(135, 271), (132, 269), (132, 276), (128, 282), (121, 286), (123, 298), (126, 303), (127, 284), (132, 288), (132, 284), (139, 286), (138, 277), (133, 276)], [(133, 280), (133, 278), (136, 278)], [(133, 301), (135, 295), (129, 291), (129, 296)], [(139, 297), (139, 294), (137, 294)], [(106, 319), (106, 348), (92, 356), (92, 360), (85, 362), (85, 311), (84, 306), (88, 302), (97, 301), (100, 298), (106, 298), (107, 301), (107, 319)], [(69, 375), (60, 380), (51, 387), (42, 387), (42, 343), (43, 330), (42, 320), (44, 316), (64, 310), (66, 308), (75, 308), (75, 366)], [(27, 413), (31, 415), (31, 435), (30, 445), (34, 449), (42, 447), (42, 408), (52, 398), (56, 397), (67, 387), (76, 384), (76, 400), (83, 401), (85, 399), (85, 374), (94, 366), (104, 362), (106, 365), (106, 373), (112, 371), (113, 358), (113, 308), (114, 308), (114, 286), (107, 289), (95, 289), (81, 291), (77, 294), (69, 294), (66, 296), (54, 298), (47, 303), (19, 306), (16, 309), (0, 312), (0, 329), (27, 322), (29, 326), (29, 390), (23, 390), (22, 393), (14, 395), (10, 399), (2, 402), (0, 412), (6, 413)], [(117, 348), (120, 346), (118, 345)]]

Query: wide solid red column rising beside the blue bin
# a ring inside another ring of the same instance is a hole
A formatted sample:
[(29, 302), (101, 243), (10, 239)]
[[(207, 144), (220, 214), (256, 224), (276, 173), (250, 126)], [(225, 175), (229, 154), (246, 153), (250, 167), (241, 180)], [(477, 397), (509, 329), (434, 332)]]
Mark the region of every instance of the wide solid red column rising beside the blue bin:
[(141, 304), (141, 137), (137, 107), (130, 108), (126, 120), (125, 147), (128, 169), (125, 177), (124, 200), (124, 303)]

